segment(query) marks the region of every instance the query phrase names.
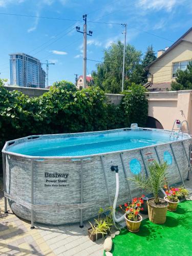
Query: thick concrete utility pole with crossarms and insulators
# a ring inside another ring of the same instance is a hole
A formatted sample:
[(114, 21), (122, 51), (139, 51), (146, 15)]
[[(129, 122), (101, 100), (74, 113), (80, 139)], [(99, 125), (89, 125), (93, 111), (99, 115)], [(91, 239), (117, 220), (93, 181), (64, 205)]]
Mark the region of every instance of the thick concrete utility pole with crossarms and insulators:
[(84, 20), (83, 31), (80, 31), (80, 27), (76, 26), (76, 30), (83, 34), (83, 88), (86, 88), (87, 83), (87, 35), (92, 36), (93, 31), (87, 33), (87, 14), (82, 16)]

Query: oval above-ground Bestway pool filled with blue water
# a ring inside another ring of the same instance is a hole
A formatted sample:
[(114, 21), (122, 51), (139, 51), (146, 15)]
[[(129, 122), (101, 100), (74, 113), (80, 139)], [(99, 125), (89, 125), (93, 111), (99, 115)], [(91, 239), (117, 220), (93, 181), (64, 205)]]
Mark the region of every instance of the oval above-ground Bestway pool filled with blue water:
[(8, 141), (2, 151), (5, 198), (16, 215), (32, 222), (82, 225), (112, 205), (112, 165), (119, 168), (122, 204), (142, 193), (126, 178), (148, 175), (154, 159), (167, 162), (169, 184), (185, 180), (190, 140), (182, 133), (126, 128)]

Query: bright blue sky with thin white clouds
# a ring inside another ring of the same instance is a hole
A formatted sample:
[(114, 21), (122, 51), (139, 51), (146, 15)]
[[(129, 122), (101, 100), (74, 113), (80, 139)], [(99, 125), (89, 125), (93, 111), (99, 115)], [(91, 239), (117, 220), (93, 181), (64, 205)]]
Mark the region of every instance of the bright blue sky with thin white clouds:
[[(172, 45), (192, 26), (192, 1), (0, 0), (0, 78), (10, 79), (9, 54), (23, 52), (55, 63), (49, 68), (50, 85), (74, 82), (74, 74), (82, 75), (83, 35), (75, 27), (83, 29), (83, 14), (93, 31), (87, 58), (102, 61), (112, 42), (124, 40), (120, 24), (127, 24), (127, 43), (143, 54), (149, 45), (155, 52)], [(96, 69), (96, 61), (87, 61), (87, 74)]]

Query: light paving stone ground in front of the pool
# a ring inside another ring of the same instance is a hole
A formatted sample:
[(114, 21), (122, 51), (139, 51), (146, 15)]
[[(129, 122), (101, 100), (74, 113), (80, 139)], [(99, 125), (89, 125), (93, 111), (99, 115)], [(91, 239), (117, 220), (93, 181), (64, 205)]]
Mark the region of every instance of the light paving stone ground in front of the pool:
[[(189, 181), (185, 181), (185, 185), (191, 193), (192, 175), (190, 175)], [(104, 239), (92, 242), (87, 236), (87, 228), (90, 227), (89, 222), (85, 222), (83, 228), (79, 228), (79, 224), (53, 226), (35, 223), (35, 229), (30, 229), (30, 222), (15, 216), (10, 208), (9, 214), (5, 214), (4, 193), (1, 187), (2, 183), (0, 184), (1, 256), (103, 255)]]

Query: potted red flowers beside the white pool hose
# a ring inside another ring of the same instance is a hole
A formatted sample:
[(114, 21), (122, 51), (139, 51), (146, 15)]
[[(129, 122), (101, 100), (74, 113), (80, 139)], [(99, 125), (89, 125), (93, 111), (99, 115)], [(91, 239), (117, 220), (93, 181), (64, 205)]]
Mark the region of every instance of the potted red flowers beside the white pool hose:
[(124, 204), (125, 210), (122, 208), (122, 205), (119, 205), (119, 207), (126, 213), (124, 217), (126, 221), (126, 227), (133, 233), (139, 231), (139, 227), (142, 221), (142, 216), (139, 214), (140, 210), (143, 210), (141, 204), (143, 204), (142, 198), (134, 198), (131, 204)]

